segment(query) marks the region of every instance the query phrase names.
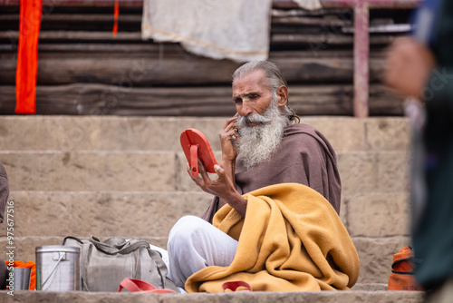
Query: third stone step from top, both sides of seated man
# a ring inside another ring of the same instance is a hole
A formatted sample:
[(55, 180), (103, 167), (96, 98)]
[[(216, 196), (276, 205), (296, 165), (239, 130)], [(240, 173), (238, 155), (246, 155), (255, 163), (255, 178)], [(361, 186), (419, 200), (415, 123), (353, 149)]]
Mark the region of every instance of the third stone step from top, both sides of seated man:
[[(211, 200), (202, 191), (10, 192), (17, 237), (167, 237), (179, 218), (201, 216)], [(344, 199), (341, 219), (352, 237), (408, 236), (409, 212), (407, 193), (374, 193)]]

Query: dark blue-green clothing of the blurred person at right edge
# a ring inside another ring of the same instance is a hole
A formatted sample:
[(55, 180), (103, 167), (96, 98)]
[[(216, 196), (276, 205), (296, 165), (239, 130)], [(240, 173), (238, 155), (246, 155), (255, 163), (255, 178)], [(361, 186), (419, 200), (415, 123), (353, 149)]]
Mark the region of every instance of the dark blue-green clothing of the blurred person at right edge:
[(427, 196), (413, 230), (413, 247), (419, 261), (416, 278), (434, 288), (453, 278), (453, 1), (425, 1), (424, 8), (437, 12), (430, 24), (417, 27), (432, 26), (430, 34), (419, 37), (429, 45), (437, 67), (424, 92)]

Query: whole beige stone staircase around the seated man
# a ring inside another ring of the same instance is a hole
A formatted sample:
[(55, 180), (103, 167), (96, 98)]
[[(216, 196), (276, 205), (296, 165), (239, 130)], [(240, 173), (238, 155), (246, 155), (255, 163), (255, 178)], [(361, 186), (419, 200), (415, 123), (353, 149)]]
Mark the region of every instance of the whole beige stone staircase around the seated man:
[[(0, 161), (14, 201), (14, 258), (72, 235), (148, 239), (165, 248), (181, 216), (200, 216), (210, 195), (186, 172), (179, 134), (197, 128), (217, 159), (225, 118), (3, 116)], [(352, 292), (157, 296), (17, 292), (14, 301), (418, 302), (421, 293), (386, 291), (392, 256), (409, 244), (410, 126), (405, 118), (306, 117), (337, 152), (341, 218), (361, 259)], [(6, 225), (0, 225), (6, 248)], [(13, 298), (7, 296), (7, 302)]]

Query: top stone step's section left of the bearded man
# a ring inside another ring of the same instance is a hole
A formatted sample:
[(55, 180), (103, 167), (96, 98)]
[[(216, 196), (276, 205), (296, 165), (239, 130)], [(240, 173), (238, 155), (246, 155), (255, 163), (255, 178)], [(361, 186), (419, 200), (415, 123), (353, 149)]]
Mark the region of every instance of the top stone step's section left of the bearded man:
[[(204, 132), (212, 144), (226, 118), (117, 116), (3, 116), (0, 147), (6, 151), (180, 151), (187, 128)], [(26, 135), (25, 135), (26, 134)], [(20, 138), (20, 140), (17, 140)], [(220, 149), (220, 143), (215, 145)]]

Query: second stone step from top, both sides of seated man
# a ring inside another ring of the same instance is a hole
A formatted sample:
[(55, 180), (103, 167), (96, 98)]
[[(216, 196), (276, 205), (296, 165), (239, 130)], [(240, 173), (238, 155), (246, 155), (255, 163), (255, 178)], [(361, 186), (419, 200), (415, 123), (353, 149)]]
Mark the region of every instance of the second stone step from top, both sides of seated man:
[[(221, 153), (215, 153), (217, 161)], [(337, 152), (342, 194), (407, 191), (407, 151)], [(194, 191), (182, 151), (3, 151), (11, 191)]]

